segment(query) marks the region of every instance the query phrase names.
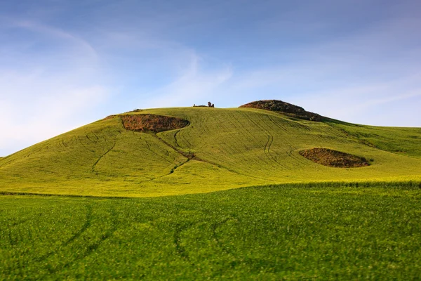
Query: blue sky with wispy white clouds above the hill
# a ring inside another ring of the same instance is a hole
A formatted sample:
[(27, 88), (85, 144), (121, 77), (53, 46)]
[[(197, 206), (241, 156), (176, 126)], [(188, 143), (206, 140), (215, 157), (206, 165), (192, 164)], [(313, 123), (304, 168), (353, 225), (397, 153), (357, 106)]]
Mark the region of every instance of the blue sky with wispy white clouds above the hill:
[(419, 0), (1, 0), (0, 156), (137, 108), (421, 127)]

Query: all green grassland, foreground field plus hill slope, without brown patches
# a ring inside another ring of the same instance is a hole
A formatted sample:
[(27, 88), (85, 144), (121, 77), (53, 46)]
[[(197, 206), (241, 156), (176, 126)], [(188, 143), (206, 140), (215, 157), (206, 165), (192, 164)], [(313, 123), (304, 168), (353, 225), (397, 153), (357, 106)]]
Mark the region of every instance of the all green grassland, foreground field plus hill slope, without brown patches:
[[(417, 280), (421, 129), (251, 108), (116, 115), (0, 157), (0, 280)], [(369, 166), (316, 164), (329, 148)]]

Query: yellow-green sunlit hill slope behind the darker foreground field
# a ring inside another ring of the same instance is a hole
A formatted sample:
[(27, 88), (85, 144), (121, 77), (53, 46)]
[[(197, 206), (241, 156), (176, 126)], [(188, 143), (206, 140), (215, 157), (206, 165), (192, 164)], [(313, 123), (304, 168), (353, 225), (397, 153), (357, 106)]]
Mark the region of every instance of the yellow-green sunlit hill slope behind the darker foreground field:
[[(142, 197), (271, 183), (421, 179), (416, 128), (375, 127), (382, 138), (367, 145), (349, 133), (352, 124), (310, 122), (266, 110), (180, 107), (128, 114), (145, 113), (190, 124), (156, 135), (127, 131), (119, 117), (88, 124), (0, 159), (0, 191)], [(372, 162), (341, 169), (299, 154), (317, 147)], [(183, 152), (196, 157), (188, 159)]]

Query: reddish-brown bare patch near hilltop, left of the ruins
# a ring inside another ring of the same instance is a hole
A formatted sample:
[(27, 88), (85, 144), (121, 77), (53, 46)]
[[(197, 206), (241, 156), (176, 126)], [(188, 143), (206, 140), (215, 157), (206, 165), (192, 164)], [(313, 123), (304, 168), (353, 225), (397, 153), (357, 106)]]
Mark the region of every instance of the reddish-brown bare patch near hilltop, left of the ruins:
[(181, 129), (189, 124), (185, 119), (177, 117), (168, 117), (163, 115), (121, 115), (123, 126), (131, 131), (152, 131), (158, 133), (160, 131), (168, 131)]

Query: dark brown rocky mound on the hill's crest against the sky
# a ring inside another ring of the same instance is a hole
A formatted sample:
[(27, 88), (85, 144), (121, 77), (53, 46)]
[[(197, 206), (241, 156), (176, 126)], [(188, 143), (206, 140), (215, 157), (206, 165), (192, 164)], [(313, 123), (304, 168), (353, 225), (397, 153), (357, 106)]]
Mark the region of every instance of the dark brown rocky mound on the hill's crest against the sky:
[(299, 119), (305, 119), (309, 121), (323, 121), (323, 116), (313, 112), (305, 111), (304, 108), (290, 103), (285, 103), (282, 100), (258, 100), (253, 103), (247, 103), (240, 107), (258, 108), (260, 110), (270, 110), (274, 112), (280, 112), (290, 117)]

